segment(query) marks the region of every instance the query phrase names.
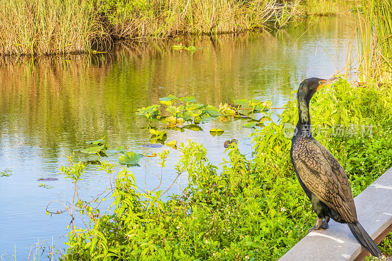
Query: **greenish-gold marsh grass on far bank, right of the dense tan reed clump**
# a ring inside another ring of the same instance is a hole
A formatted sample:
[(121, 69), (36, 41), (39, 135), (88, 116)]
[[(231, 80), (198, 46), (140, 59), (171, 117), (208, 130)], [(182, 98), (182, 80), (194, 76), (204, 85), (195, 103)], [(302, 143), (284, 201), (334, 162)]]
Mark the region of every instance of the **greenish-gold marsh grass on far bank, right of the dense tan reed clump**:
[[(220, 34), (263, 27), (293, 17), (297, 1), (276, 0), (94, 0), (120, 38), (166, 37), (180, 33)], [(284, 21), (283, 21), (284, 22)]]

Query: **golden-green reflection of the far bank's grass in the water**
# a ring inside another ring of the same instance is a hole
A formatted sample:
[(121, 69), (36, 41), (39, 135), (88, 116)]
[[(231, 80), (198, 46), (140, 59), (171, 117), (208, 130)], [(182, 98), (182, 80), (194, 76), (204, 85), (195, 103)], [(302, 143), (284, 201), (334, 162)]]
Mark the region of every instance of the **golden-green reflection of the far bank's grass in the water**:
[[(106, 54), (41, 56), (34, 63), (28, 57), (2, 57), (0, 111), (10, 118), (0, 129), (39, 137), (33, 144), (47, 148), (43, 157), (51, 159), (64, 147), (70, 151), (83, 147), (83, 138), (109, 134), (113, 139), (113, 133), (118, 133), (119, 140), (144, 141), (148, 130), (140, 128), (148, 119), (135, 112), (169, 94), (196, 96), (198, 102), (216, 107), (244, 97), (268, 98), (260, 93), (289, 94), (292, 85), (279, 86), (304, 78), (301, 68), (308, 63), (296, 50), (303, 48), (309, 36), (347, 31), (335, 18), (320, 18), (308, 30), (304, 28), (313, 23), (295, 21), (293, 25), (300, 29), (263, 30), (263, 35), (181, 38), (184, 45), (202, 47), (195, 53), (173, 50), (176, 41), (157, 39), (119, 45)], [(291, 43), (290, 53), (282, 52)]]

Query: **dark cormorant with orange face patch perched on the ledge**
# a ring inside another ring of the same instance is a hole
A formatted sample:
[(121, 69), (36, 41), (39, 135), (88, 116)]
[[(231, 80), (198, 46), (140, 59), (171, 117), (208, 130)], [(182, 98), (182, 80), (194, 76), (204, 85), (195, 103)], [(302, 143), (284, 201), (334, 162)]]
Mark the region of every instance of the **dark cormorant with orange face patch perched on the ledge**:
[(382, 255), (381, 251), (358, 222), (350, 183), (342, 166), (313, 138), (310, 128), (310, 99), (321, 87), (336, 79), (309, 78), (299, 85), (299, 119), (292, 139), (290, 156), (299, 184), (317, 214), (316, 225), (309, 229), (309, 232), (327, 229), (328, 221), (332, 218), (336, 222), (346, 223), (358, 242), (370, 254), (379, 257)]

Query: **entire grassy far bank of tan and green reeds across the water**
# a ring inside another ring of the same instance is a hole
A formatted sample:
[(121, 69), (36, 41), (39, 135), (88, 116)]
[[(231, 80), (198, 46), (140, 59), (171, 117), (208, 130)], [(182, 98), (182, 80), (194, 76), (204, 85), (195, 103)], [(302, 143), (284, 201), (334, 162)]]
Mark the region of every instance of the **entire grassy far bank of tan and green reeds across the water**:
[(281, 27), (327, 15), (335, 0), (9, 0), (0, 3), (0, 55), (106, 50), (116, 40)]

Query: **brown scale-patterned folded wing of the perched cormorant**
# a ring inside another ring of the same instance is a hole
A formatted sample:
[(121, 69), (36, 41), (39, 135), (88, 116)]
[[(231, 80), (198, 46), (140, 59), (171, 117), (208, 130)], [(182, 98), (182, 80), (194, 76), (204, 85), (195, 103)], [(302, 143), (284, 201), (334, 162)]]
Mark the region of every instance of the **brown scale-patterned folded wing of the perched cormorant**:
[(357, 220), (347, 176), (326, 148), (309, 142), (300, 152), (296, 153), (294, 149), (293, 159), (299, 177), (310, 191), (340, 214), (344, 221), (351, 223)]

